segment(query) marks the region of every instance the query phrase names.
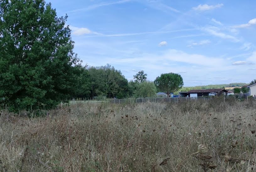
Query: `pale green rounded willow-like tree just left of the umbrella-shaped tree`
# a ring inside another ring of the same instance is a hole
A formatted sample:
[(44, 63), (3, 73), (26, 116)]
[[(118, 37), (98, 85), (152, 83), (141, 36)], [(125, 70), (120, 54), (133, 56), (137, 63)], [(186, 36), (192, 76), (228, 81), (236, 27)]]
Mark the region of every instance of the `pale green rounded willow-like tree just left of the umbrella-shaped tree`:
[(136, 98), (154, 97), (155, 94), (156, 94), (155, 84), (153, 82), (148, 82), (148, 81), (140, 83), (135, 91)]

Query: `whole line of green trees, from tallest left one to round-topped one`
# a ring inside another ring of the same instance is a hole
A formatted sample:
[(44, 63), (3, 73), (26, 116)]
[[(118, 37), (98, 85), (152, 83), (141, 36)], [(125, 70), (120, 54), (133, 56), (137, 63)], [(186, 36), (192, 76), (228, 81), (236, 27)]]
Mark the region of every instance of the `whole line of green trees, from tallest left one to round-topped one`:
[(44, 0), (0, 1), (0, 110), (50, 109), (78, 97), (151, 97), (182, 87), (174, 73), (149, 82), (140, 71), (128, 81), (109, 64), (82, 66), (67, 18)]

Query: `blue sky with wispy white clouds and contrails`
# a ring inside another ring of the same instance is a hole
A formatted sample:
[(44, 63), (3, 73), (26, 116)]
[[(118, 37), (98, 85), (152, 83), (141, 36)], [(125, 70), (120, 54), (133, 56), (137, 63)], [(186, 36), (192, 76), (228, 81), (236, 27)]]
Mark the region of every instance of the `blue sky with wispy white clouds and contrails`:
[(68, 15), (83, 65), (133, 79), (179, 73), (184, 86), (256, 78), (256, 1), (46, 0)]

